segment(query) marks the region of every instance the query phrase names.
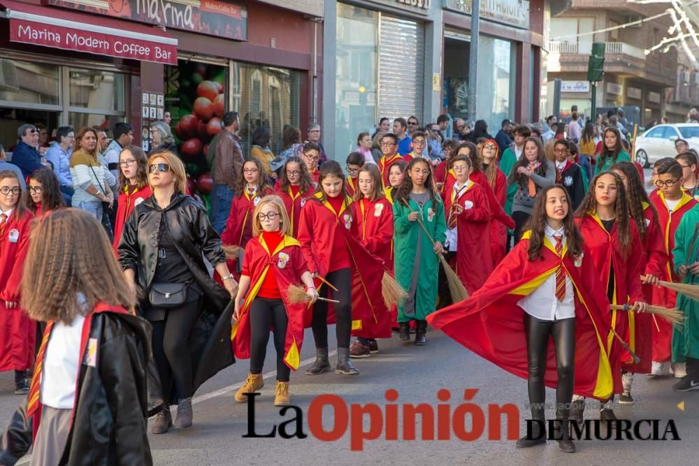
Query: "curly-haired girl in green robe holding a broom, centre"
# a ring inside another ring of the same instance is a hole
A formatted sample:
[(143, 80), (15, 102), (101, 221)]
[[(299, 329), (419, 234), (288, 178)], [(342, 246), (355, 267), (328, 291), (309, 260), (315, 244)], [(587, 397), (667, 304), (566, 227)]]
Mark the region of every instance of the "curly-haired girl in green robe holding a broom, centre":
[(416, 321), (415, 344), (426, 343), (426, 317), (435, 311), (439, 260), (444, 252), (447, 223), (444, 205), (435, 194), (432, 172), (424, 159), (412, 159), (394, 202), (394, 270), (408, 299), (398, 305), (401, 340), (410, 340)]

